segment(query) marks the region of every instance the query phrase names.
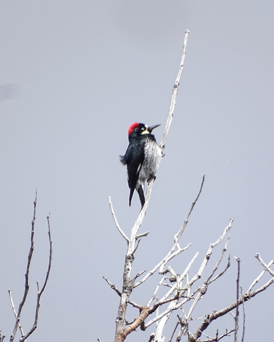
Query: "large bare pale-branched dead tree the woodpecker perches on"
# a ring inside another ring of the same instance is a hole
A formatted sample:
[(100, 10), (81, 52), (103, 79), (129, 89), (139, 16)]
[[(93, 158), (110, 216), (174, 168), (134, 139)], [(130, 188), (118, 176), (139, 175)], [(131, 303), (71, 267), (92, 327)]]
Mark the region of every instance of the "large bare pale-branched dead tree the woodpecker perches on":
[[(185, 57), (185, 49), (186, 49), (186, 42), (187, 42), (187, 36), (189, 31), (187, 30), (185, 32), (185, 39), (184, 39), (184, 46), (183, 46), (183, 55), (181, 59), (180, 69), (177, 76), (177, 79), (173, 86), (173, 94), (171, 98), (171, 106), (169, 109), (169, 115), (165, 127), (165, 131), (160, 143), (160, 148), (163, 150), (165, 148), (165, 140), (170, 128), (171, 120), (173, 117), (173, 110), (175, 106), (175, 97), (178, 91), (179, 81), (183, 70), (184, 65), (184, 57)], [(109, 205), (110, 210), (112, 212), (116, 227), (122, 237), (126, 240), (128, 245), (128, 250), (126, 254), (126, 261), (125, 261), (125, 267), (123, 271), (123, 285), (122, 290), (120, 291), (115, 285), (113, 285), (106, 277), (103, 277), (107, 283), (111, 286), (111, 288), (119, 295), (120, 297), (120, 304), (118, 308), (118, 313), (116, 317), (116, 331), (115, 331), (115, 342), (123, 342), (126, 337), (134, 330), (136, 330), (138, 327), (140, 327), (141, 330), (145, 331), (147, 327), (151, 326), (152, 324), (156, 323), (155, 326), (155, 332), (152, 333), (149, 337), (149, 342), (154, 340), (155, 342), (164, 342), (165, 336), (163, 334), (163, 329), (170, 317), (170, 315), (175, 311), (180, 309), (180, 312), (182, 312), (182, 317), (177, 315), (177, 322), (175, 324), (175, 328), (171, 334), (171, 337), (169, 338), (169, 342), (174, 339), (176, 342), (181, 341), (182, 337), (184, 337), (184, 341), (187, 342), (211, 342), (211, 341), (219, 341), (220, 339), (230, 336), (232, 332), (234, 332), (234, 340), (237, 341), (237, 330), (238, 330), (238, 308), (240, 305), (244, 306), (244, 303), (251, 298), (255, 297), (258, 293), (264, 291), (268, 286), (270, 286), (274, 282), (274, 272), (270, 269), (270, 265), (274, 263), (273, 260), (269, 262), (269, 264), (264, 263), (264, 261), (260, 258), (259, 254), (256, 254), (255, 257), (259, 260), (259, 262), (263, 266), (263, 271), (260, 275), (256, 277), (256, 279), (252, 282), (250, 287), (244, 292), (239, 295), (239, 259), (237, 259), (238, 262), (238, 276), (237, 276), (237, 298), (231, 305), (220, 308), (218, 311), (213, 311), (211, 314), (204, 316), (201, 318), (201, 324), (195, 331), (191, 331), (189, 324), (191, 322), (192, 312), (199, 302), (199, 300), (205, 296), (207, 293), (208, 287), (212, 284), (212, 282), (217, 281), (229, 268), (230, 266), (230, 256), (227, 258), (227, 263), (225, 267), (222, 269), (221, 272), (217, 274), (217, 268), (220, 265), (220, 262), (222, 261), (224, 254), (227, 249), (227, 244), (229, 242), (229, 236), (228, 232), (230, 228), (232, 227), (233, 218), (230, 219), (229, 224), (224, 229), (221, 236), (213, 243), (209, 245), (208, 251), (204, 257), (203, 262), (201, 263), (198, 272), (190, 278), (190, 268), (193, 265), (195, 259), (197, 258), (198, 252), (193, 256), (191, 260), (189, 260), (189, 263), (187, 267), (180, 273), (175, 272), (175, 270), (171, 266), (166, 266), (167, 263), (173, 259), (174, 257), (177, 257), (180, 253), (185, 251), (191, 244), (188, 244), (187, 246), (180, 247), (180, 238), (184, 232), (184, 229), (187, 225), (187, 222), (190, 218), (191, 212), (193, 210), (193, 207), (195, 206), (196, 201), (198, 200), (201, 190), (203, 188), (205, 180), (205, 175), (203, 175), (203, 180), (201, 182), (199, 193), (196, 197), (196, 199), (192, 202), (190, 212), (187, 215), (186, 220), (184, 221), (182, 227), (180, 228), (179, 232), (175, 234), (174, 236), (174, 244), (171, 246), (169, 251), (164, 255), (162, 260), (159, 261), (157, 265), (153, 269), (147, 272), (147, 270), (142, 271), (135, 276), (131, 278), (131, 267), (134, 260), (134, 253), (136, 249), (139, 246), (140, 239), (142, 237), (147, 236), (149, 232), (138, 234), (138, 230), (140, 228), (140, 225), (142, 223), (142, 220), (144, 218), (146, 208), (148, 205), (149, 198), (151, 196), (152, 186), (154, 179), (150, 179), (148, 181), (147, 185), (147, 191), (146, 191), (146, 197), (145, 197), (145, 205), (142, 208), (132, 230), (130, 237), (128, 237), (120, 228), (118, 221), (116, 219), (112, 202), (109, 199)], [(217, 245), (221, 244), (223, 240), (226, 238), (226, 241), (224, 243), (223, 249), (221, 254), (219, 255), (218, 261), (212, 268), (209, 276), (204, 278), (203, 284), (201, 286), (197, 286), (196, 281), (203, 277), (203, 272), (208, 264), (209, 259), (211, 258), (211, 254), (213, 251), (213, 248)], [(151, 299), (147, 304), (140, 304), (140, 303), (134, 303), (130, 300), (131, 292), (138, 286), (142, 285), (149, 277), (153, 276), (155, 272), (158, 271), (160, 275), (162, 275), (161, 280), (158, 282), (158, 284), (155, 286), (155, 291), (151, 295)], [(261, 277), (264, 275), (264, 273), (270, 273), (272, 278), (265, 282), (260, 288), (257, 288), (256, 290), (253, 290), (254, 286), (257, 284), (257, 282), (261, 279)], [(145, 274), (145, 275), (144, 275)], [(137, 279), (143, 275), (143, 278), (139, 281)], [(159, 289), (162, 289), (164, 286), (165, 288), (168, 288), (165, 295), (161, 298), (157, 298), (157, 293), (159, 293)], [(188, 303), (190, 302), (190, 303)], [(185, 304), (188, 303), (189, 305), (186, 306)], [(136, 313), (136, 317), (134, 320), (129, 323), (126, 321), (126, 311), (127, 306), (132, 305), (134, 308), (137, 309), (138, 313)], [(187, 311), (186, 308), (187, 307)], [(189, 308), (190, 307), (190, 308)], [(234, 315), (235, 320), (235, 326), (231, 329), (226, 329), (221, 334), (219, 334), (218, 330), (214, 337), (209, 337), (206, 335), (205, 331), (211, 324), (213, 320), (218, 319), (221, 316), (226, 315), (227, 313), (230, 313), (232, 310), (236, 310), (236, 313)], [(178, 312), (178, 311), (177, 311)], [(176, 330), (178, 330), (177, 334), (175, 333)], [(204, 339), (200, 340), (201, 335), (204, 335)], [(242, 338), (243, 340), (243, 338)], [(100, 341), (100, 339), (98, 339)]]

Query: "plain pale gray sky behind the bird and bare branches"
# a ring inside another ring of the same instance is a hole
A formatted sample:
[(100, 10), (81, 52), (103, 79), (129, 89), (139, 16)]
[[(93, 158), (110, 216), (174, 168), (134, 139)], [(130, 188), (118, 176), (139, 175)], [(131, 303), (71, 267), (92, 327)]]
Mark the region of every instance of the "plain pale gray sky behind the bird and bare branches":
[[(126, 151), (134, 121), (161, 123), (155, 130), (160, 142), (186, 29), (166, 156), (140, 231), (150, 234), (135, 254), (132, 274), (151, 269), (170, 249), (206, 173), (181, 242), (192, 247), (174, 265), (183, 271), (199, 251), (197, 269), (233, 216), (228, 252), (241, 259), (240, 285), (248, 289), (262, 271), (255, 253), (267, 263), (273, 259), (273, 13), (273, 1), (1, 2), (3, 333), (9, 336), (14, 326), (8, 289), (17, 308), (24, 291), (37, 187), (35, 252), (21, 317), (25, 332), (34, 321), (36, 281), (42, 283), (47, 270), (49, 211), (53, 260), (38, 329), (28, 340), (113, 339), (119, 298), (102, 276), (121, 287), (126, 244), (107, 196), (129, 234), (140, 203), (134, 194), (128, 207), (126, 169), (118, 155)], [(235, 280), (232, 258), (220, 287), (212, 288), (194, 316), (232, 303)], [(146, 304), (153, 284), (132, 300)], [(246, 341), (269, 339), (273, 295), (274, 286), (246, 303)], [(130, 311), (127, 319), (136, 314)], [(224, 326), (233, 324), (231, 316)], [(146, 341), (149, 334), (138, 330), (128, 340)]]

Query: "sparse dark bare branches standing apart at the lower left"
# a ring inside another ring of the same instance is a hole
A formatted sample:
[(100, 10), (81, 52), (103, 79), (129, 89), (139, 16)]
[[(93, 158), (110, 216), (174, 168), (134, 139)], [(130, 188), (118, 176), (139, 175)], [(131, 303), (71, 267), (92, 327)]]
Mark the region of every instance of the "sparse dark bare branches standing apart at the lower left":
[[(29, 253), (28, 253), (27, 269), (26, 269), (26, 274), (25, 274), (25, 291), (24, 291), (24, 294), (23, 294), (23, 299), (22, 299), (21, 303), (18, 306), (17, 312), (16, 312), (14, 304), (13, 304), (11, 290), (8, 290), (9, 296), (10, 296), (12, 310), (13, 310), (13, 313), (14, 313), (14, 316), (15, 316), (15, 325), (14, 325), (12, 334), (10, 335), (10, 342), (14, 341), (15, 334), (16, 334), (18, 328), (19, 328), (19, 330), (21, 332), (21, 338), (19, 338), (19, 342), (25, 341), (36, 330), (37, 324), (38, 324), (38, 314), (39, 314), (39, 307), (40, 307), (40, 298), (41, 298), (41, 295), (44, 292), (44, 289), (45, 289), (45, 287), (47, 285), (47, 282), (48, 282), (48, 279), (49, 279), (49, 274), (50, 274), (51, 258), (52, 258), (52, 241), (51, 241), (51, 236), (50, 236), (50, 214), (49, 214), (47, 216), (47, 220), (48, 220), (48, 234), (49, 234), (49, 242), (50, 242), (48, 271), (47, 271), (47, 274), (45, 276), (45, 280), (44, 280), (44, 283), (43, 283), (43, 286), (42, 286), (41, 289), (39, 288), (39, 282), (37, 281), (37, 301), (36, 301), (36, 310), (35, 310), (34, 324), (28, 330), (28, 332), (25, 334), (24, 331), (23, 331), (22, 325), (20, 323), (20, 316), (21, 316), (22, 308), (23, 308), (23, 306), (24, 306), (24, 304), (26, 302), (27, 295), (28, 295), (28, 290), (29, 290), (28, 278), (29, 278), (30, 262), (31, 262), (31, 258), (32, 258), (32, 253), (34, 251), (34, 224), (35, 224), (35, 214), (36, 214), (36, 200), (37, 200), (37, 192), (36, 192), (35, 201), (34, 201), (33, 219), (31, 221), (30, 249), (29, 249)], [(1, 331), (0, 331), (0, 342), (2, 342), (4, 340), (4, 338), (5, 338), (5, 335), (1, 335)]]

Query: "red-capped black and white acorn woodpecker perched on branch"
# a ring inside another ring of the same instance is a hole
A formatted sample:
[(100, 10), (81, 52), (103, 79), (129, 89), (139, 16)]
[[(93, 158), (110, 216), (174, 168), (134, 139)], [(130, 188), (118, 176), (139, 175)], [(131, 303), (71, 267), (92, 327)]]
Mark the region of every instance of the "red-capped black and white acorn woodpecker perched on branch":
[(120, 161), (127, 166), (128, 185), (130, 188), (129, 206), (134, 189), (139, 194), (141, 206), (145, 204), (145, 181), (155, 178), (162, 152), (156, 143), (152, 130), (160, 125), (148, 127), (144, 123), (134, 122), (128, 129), (129, 145)]

